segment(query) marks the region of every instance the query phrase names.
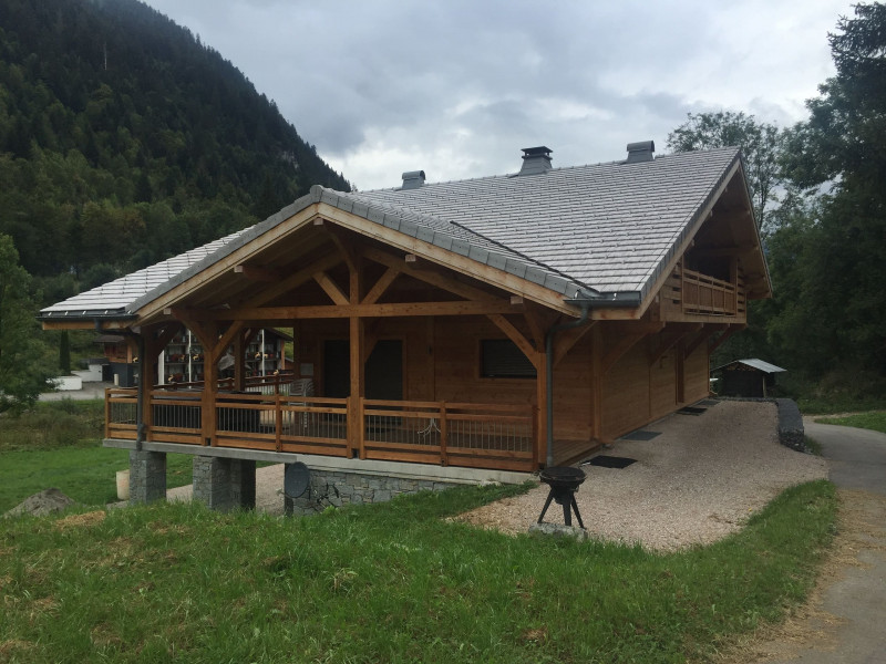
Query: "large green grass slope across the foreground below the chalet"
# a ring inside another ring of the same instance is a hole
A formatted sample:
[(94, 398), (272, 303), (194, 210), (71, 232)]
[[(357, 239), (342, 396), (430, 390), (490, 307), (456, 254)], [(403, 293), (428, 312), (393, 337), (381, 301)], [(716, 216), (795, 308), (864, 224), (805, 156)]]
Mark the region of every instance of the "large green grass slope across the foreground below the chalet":
[(161, 504), (0, 521), (0, 660), (704, 660), (805, 596), (836, 510), (831, 484), (802, 485), (667, 556), (443, 519), (519, 490), (296, 519)]

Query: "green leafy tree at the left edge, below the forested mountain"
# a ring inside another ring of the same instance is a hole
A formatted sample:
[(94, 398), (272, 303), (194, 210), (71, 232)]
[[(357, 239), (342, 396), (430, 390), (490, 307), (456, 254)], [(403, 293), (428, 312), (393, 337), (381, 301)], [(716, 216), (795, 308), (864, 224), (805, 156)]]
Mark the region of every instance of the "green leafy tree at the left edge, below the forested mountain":
[(12, 239), (0, 235), (0, 413), (33, 405), (52, 375), (38, 336), (30, 282)]

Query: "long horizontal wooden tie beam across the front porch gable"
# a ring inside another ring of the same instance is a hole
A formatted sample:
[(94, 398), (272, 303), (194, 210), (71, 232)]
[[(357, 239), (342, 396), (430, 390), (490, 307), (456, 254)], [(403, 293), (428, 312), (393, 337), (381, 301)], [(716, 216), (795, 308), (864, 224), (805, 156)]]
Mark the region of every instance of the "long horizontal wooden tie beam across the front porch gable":
[[(485, 315), (513, 313), (507, 300), (486, 302), (399, 302), (391, 304), (320, 304), (316, 307), (266, 307), (248, 309), (173, 309), (172, 314), (187, 321), (188, 328), (200, 321), (295, 321), (300, 319), (392, 318), (414, 315)], [(521, 308), (516, 308), (519, 310)], [(192, 328), (193, 330), (193, 328)], [(195, 331), (195, 333), (197, 333)], [(199, 338), (199, 333), (197, 333)]]

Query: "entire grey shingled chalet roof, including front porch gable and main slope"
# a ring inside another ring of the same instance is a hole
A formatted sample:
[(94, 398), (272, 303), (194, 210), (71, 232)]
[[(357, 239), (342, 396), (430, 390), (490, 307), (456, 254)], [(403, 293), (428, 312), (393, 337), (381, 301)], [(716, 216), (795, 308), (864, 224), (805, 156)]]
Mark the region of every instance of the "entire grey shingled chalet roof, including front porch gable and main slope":
[(344, 194), (313, 187), (261, 224), (48, 307), (43, 319), (135, 313), (297, 211), (323, 201), (557, 293), (647, 294), (739, 159), (738, 148)]

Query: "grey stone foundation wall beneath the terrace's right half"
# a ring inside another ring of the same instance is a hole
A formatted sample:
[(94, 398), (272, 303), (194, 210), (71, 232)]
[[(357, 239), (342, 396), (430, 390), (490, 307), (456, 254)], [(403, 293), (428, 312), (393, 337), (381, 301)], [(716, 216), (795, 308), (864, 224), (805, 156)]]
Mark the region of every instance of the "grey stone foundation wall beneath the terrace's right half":
[(444, 491), (461, 486), (456, 483), (410, 479), (363, 473), (315, 470), (308, 489), (299, 498), (286, 498), (286, 511), (312, 515), (329, 506), (385, 502), (401, 494)]

